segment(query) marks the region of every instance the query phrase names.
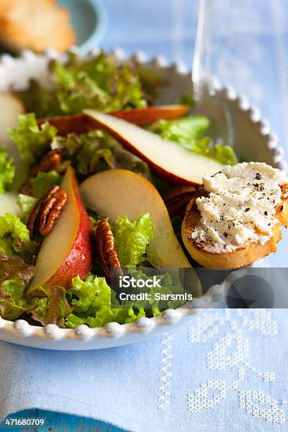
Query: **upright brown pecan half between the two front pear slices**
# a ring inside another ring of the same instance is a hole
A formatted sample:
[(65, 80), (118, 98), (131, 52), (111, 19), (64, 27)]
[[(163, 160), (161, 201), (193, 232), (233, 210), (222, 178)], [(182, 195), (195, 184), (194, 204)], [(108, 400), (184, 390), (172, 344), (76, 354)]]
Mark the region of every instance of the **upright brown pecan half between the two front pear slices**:
[(112, 277), (124, 276), (124, 269), (121, 267), (118, 254), (115, 248), (114, 235), (107, 220), (100, 220), (95, 228), (96, 251), (102, 265), (105, 277), (111, 280)]

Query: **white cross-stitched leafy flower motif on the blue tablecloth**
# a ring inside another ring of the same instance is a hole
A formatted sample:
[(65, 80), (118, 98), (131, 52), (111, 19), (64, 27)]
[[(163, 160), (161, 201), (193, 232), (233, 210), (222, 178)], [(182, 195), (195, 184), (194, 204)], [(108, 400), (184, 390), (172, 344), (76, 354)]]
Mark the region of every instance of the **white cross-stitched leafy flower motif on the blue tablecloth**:
[(265, 383), (275, 380), (275, 373), (258, 371), (249, 364), (249, 343), (244, 337), (244, 329), (257, 330), (264, 336), (277, 335), (277, 322), (272, 320), (271, 312), (265, 309), (239, 310), (236, 316), (232, 316), (231, 311), (227, 309), (222, 314), (204, 313), (197, 318), (196, 325), (189, 328), (189, 341), (192, 344), (203, 344), (217, 336), (220, 328), (226, 331), (208, 351), (207, 367), (211, 371), (226, 371), (227, 368), (231, 368), (236, 370), (237, 379), (232, 383), (218, 379), (207, 380), (199, 388), (188, 393), (188, 411), (196, 413), (211, 409), (227, 398), (229, 390), (234, 390), (239, 395), (240, 409), (268, 423), (284, 424), (284, 409), (280, 408), (277, 400), (263, 390), (244, 388), (248, 372), (255, 374)]

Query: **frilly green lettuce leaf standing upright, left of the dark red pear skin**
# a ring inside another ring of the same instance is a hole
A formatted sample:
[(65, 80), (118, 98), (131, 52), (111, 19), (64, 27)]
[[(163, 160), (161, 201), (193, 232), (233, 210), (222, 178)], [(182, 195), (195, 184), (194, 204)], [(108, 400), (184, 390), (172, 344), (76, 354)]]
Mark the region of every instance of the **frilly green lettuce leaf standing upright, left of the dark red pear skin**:
[(35, 114), (19, 116), (19, 126), (8, 129), (11, 140), (16, 143), (20, 157), (30, 164), (34, 164), (50, 148), (57, 130), (54, 126), (44, 123), (37, 125)]

